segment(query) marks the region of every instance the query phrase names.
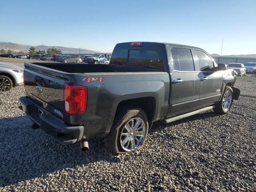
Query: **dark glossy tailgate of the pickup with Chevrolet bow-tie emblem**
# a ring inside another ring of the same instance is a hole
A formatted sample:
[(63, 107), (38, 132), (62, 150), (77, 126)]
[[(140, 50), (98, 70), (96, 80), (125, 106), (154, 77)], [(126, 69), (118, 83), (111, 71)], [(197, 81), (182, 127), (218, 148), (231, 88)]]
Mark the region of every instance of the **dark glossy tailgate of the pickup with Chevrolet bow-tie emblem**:
[[(51, 112), (64, 112), (63, 74), (41, 66), (25, 64), (24, 83), (26, 96)], [(63, 114), (63, 113), (62, 113)]]

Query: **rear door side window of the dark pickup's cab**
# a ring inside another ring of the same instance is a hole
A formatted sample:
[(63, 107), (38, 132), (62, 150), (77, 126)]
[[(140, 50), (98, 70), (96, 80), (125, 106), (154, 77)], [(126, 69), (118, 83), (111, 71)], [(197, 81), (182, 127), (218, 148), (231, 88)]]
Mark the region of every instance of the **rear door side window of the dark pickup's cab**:
[(184, 48), (171, 48), (174, 70), (194, 71), (194, 61), (191, 50)]

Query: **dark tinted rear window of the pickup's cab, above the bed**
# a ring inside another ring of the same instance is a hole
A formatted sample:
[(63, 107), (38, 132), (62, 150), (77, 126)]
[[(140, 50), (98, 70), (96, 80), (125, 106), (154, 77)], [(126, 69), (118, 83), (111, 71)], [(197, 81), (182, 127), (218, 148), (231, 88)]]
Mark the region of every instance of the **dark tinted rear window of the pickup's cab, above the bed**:
[(116, 46), (110, 64), (164, 71), (160, 47), (138, 46), (134, 48), (132, 46)]

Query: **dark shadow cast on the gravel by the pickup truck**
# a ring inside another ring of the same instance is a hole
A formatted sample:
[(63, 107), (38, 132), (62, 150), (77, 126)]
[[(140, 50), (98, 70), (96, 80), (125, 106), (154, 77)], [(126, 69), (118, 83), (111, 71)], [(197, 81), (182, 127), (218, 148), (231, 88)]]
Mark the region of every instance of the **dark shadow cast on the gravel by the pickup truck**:
[[(149, 134), (166, 126), (215, 116), (218, 114), (205, 112), (169, 124), (158, 121), (153, 124)], [(81, 152), (79, 142), (64, 146), (42, 130), (32, 130), (31, 126), (32, 122), (26, 116), (0, 119), (0, 186), (38, 177), (47, 178), (55, 171), (60, 174), (67, 169), (74, 172), (77, 166), (87, 167), (86, 171), (90, 173), (93, 162), (120, 162), (120, 158), (106, 152), (102, 138), (90, 139), (90, 150)], [(171, 140), (175, 140), (175, 137)]]

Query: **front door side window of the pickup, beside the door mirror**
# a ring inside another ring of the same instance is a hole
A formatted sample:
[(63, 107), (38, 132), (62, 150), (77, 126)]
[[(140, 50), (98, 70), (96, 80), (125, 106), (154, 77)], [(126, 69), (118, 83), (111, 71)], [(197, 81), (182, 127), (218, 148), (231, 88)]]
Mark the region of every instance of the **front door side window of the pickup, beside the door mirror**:
[(200, 71), (211, 71), (214, 68), (212, 59), (204, 52), (195, 50), (195, 57), (197, 59)]

